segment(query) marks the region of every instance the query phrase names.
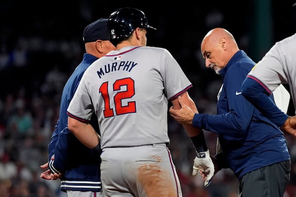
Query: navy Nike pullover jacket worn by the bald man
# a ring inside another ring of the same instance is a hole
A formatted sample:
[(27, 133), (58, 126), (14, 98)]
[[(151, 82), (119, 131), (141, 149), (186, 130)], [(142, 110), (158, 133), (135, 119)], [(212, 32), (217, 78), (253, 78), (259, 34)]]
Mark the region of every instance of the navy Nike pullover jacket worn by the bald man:
[(284, 133), (241, 94), (241, 85), (253, 66), (255, 62), (238, 51), (220, 70), (223, 87), (217, 115), (195, 114), (192, 122), (218, 133), (224, 163), (239, 179), (260, 167), (290, 159)]

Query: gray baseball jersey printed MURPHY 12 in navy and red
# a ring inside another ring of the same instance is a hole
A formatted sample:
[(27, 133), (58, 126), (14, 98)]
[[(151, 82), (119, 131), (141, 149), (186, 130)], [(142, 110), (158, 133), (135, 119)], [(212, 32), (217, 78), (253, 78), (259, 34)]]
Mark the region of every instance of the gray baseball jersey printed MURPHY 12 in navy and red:
[(191, 86), (166, 49), (128, 46), (87, 68), (68, 112), (97, 114), (102, 149), (167, 143), (168, 101)]

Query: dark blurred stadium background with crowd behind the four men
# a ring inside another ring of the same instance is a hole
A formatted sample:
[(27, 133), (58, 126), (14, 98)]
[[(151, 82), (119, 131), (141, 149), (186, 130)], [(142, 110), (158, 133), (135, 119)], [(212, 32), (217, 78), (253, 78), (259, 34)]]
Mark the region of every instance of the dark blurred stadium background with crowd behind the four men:
[[(206, 69), (200, 42), (212, 28), (230, 31), (255, 61), (274, 42), (296, 32), (294, 0), (118, 2), (97, 0), (0, 2), (0, 197), (64, 197), (59, 181), (39, 178), (47, 144), (58, 118), (62, 88), (84, 53), (84, 27), (123, 6), (143, 10), (148, 45), (167, 48), (194, 88), (189, 94), (200, 113), (216, 113), (222, 79)], [(287, 87), (287, 86), (286, 86)], [(289, 87), (287, 87), (289, 88)], [(294, 106), (289, 107), (294, 114)], [(169, 117), (170, 150), (184, 197), (237, 197), (230, 170), (216, 174), (208, 188), (191, 176), (194, 151), (182, 127)], [(216, 135), (206, 131), (212, 154)], [(292, 156), (285, 197), (296, 197), (296, 139), (286, 134)], [(79, 156), (78, 156), (79, 157)], [(295, 164), (294, 164), (295, 163)]]

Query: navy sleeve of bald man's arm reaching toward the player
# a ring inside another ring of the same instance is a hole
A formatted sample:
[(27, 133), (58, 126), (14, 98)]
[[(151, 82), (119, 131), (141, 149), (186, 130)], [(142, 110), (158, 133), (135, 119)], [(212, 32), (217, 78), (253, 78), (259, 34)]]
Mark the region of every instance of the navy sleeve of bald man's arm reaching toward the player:
[(241, 94), (247, 71), (239, 66), (229, 69), (217, 103), (217, 114), (195, 114), (192, 124), (207, 131), (227, 134), (229, 140), (244, 138), (254, 113), (254, 106)]

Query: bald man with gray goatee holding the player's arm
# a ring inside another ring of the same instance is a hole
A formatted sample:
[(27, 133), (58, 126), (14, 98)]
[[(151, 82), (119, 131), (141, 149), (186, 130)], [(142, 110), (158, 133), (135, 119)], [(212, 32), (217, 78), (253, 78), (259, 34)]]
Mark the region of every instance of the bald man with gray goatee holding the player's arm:
[[(170, 108), (170, 115), (179, 123), (218, 133), (222, 152), (215, 155), (215, 173), (230, 168), (240, 181), (241, 197), (283, 197), (290, 180), (284, 133), (241, 94), (241, 85), (255, 62), (222, 28), (205, 35), (201, 52), (206, 67), (223, 78), (217, 115), (194, 113), (181, 98), (182, 108)], [(274, 101), (272, 94), (270, 99)]]

